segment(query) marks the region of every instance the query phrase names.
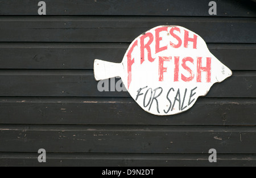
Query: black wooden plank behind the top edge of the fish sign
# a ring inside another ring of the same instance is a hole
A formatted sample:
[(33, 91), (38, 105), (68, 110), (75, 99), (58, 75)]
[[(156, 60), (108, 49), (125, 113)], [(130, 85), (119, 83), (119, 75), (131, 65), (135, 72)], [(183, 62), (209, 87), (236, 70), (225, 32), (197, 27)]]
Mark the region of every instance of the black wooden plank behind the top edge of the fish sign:
[(1, 42), (131, 42), (156, 26), (190, 29), (207, 43), (256, 43), (254, 18), (0, 16)]

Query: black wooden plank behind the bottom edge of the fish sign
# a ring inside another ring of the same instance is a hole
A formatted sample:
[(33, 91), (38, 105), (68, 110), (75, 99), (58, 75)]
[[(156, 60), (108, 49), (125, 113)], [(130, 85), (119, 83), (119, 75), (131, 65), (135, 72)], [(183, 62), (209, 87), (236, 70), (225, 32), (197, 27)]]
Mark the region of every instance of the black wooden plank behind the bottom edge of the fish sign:
[(199, 98), (186, 112), (155, 116), (131, 98), (0, 98), (0, 124), (256, 125), (255, 99)]

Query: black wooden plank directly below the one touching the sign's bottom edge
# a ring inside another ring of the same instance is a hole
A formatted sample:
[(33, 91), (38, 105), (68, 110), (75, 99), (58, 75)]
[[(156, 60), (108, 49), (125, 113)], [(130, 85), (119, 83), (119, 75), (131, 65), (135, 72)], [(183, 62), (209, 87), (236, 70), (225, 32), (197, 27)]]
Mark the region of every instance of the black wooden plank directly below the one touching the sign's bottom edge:
[(0, 125), (0, 152), (255, 154), (255, 126)]

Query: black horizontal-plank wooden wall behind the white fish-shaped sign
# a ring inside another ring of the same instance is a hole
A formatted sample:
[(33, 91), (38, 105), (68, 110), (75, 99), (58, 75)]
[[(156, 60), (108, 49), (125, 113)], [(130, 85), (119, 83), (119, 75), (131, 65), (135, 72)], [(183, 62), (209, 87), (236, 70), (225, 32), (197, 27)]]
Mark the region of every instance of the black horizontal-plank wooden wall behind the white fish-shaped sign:
[[(0, 1), (0, 166), (256, 166), (256, 3), (216, 0), (210, 16), (205, 0), (45, 0), (39, 16), (38, 2)], [(93, 76), (159, 25), (196, 32), (233, 71), (174, 116)]]

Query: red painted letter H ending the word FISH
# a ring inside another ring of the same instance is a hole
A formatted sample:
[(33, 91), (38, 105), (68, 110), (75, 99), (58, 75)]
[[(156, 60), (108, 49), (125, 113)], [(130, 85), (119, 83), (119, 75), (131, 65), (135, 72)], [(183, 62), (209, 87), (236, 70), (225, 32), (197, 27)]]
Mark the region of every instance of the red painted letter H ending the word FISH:
[(201, 82), (201, 71), (205, 71), (207, 73), (207, 82), (210, 82), (210, 63), (212, 58), (207, 57), (207, 66), (202, 67), (202, 57), (197, 57), (197, 79), (196, 82)]

